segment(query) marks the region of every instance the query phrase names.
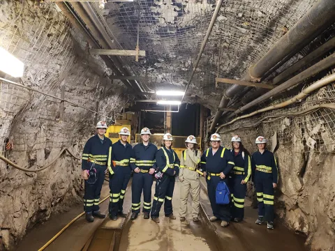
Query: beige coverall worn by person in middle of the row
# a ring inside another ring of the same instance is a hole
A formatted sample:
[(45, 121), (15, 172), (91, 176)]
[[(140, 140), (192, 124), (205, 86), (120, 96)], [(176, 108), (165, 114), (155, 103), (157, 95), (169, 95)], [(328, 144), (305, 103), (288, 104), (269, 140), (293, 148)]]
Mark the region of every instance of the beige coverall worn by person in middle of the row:
[[(187, 213), (187, 199), (191, 191), (192, 203), (192, 218), (198, 218), (200, 209), (200, 181), (198, 172), (195, 169), (200, 162), (201, 152), (186, 149), (181, 153), (179, 181), (180, 181), (180, 209), (179, 217), (186, 217)], [(191, 169), (189, 169), (191, 167)]]

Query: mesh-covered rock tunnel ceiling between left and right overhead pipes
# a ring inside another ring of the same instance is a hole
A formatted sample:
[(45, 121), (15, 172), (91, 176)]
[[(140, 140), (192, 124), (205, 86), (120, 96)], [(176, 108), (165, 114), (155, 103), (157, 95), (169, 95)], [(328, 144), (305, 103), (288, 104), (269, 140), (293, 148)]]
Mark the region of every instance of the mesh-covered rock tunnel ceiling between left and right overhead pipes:
[[(228, 84), (215, 86), (215, 77), (239, 79), (281, 38), (316, 0), (223, 1), (211, 36), (191, 82), (186, 101), (214, 109)], [(183, 89), (191, 75), (216, 1), (140, 0), (91, 3), (115, 48), (135, 50), (139, 23), (140, 50), (146, 57), (122, 57), (145, 91)], [(221, 59), (219, 48), (221, 44)], [(220, 65), (218, 69), (218, 65)], [(172, 86), (173, 85), (173, 86)]]

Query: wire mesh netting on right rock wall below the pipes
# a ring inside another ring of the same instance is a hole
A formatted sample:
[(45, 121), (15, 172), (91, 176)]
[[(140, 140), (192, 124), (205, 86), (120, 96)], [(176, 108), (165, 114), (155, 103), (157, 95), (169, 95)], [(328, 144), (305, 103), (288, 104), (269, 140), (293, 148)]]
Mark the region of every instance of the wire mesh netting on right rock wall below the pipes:
[[(334, 72), (335, 70), (332, 70), (329, 73)], [(309, 85), (311, 83), (304, 84), (302, 89)], [(288, 99), (290, 97), (276, 100), (269, 105)], [(249, 136), (255, 139), (258, 135), (270, 138), (276, 133), (280, 144), (298, 146), (292, 151), (331, 153), (335, 151), (335, 110), (316, 107), (325, 103), (335, 104), (335, 83), (322, 87), (301, 102), (285, 108), (273, 109), (259, 116), (241, 119), (221, 128), (220, 132), (226, 141), (235, 134), (245, 139)], [(315, 109), (312, 109), (313, 107)], [(247, 144), (251, 148), (254, 146), (253, 140)]]

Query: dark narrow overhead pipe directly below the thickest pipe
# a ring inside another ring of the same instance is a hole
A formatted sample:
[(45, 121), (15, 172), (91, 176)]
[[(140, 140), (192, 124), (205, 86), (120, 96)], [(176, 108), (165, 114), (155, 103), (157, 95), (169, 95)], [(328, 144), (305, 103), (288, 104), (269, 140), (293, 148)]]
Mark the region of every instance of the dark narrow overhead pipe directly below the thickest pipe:
[[(293, 73), (297, 72), (297, 70), (303, 68), (308, 63), (311, 63), (315, 59), (319, 59), (321, 56), (325, 55), (329, 50), (332, 50), (335, 47), (335, 37), (329, 39), (326, 43), (318, 47), (317, 49), (313, 50), (310, 54), (307, 56), (304, 56), (304, 58), (297, 61), (297, 63), (294, 63), (292, 66), (290, 66), (288, 69), (284, 70), (283, 73), (277, 75), (272, 79), (270, 82), (267, 82), (267, 84), (277, 85), (278, 83), (282, 82), (283, 80), (287, 79), (292, 75)], [(244, 97), (241, 102), (246, 105), (248, 102), (251, 102), (254, 98), (258, 98), (262, 94), (266, 93), (268, 90), (266, 89), (255, 89), (255, 91), (249, 93), (248, 96)], [(240, 112), (237, 111), (236, 114), (239, 114)]]

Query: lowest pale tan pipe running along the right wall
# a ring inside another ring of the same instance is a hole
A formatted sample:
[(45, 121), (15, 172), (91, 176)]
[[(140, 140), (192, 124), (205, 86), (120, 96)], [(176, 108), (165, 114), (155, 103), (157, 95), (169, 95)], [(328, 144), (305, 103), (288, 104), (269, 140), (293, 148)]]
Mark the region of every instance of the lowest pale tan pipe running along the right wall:
[[(239, 116), (238, 118), (233, 119), (232, 121), (230, 121), (228, 123), (224, 123), (223, 125), (218, 127), (216, 132), (219, 132), (219, 130), (221, 130), (221, 128), (223, 128), (224, 126), (229, 126), (230, 124), (232, 124), (236, 121), (239, 121), (241, 119), (246, 119), (246, 118), (249, 118), (249, 117), (254, 116), (256, 114), (260, 114), (262, 112), (271, 111), (273, 109), (281, 109), (283, 107), (287, 107), (288, 105), (292, 105), (293, 103), (298, 102), (298, 101), (302, 100), (303, 98), (306, 98), (306, 96), (308, 96), (313, 91), (318, 90), (321, 87), (326, 86), (327, 84), (330, 84), (332, 82), (335, 82), (335, 73), (333, 73), (332, 75), (328, 75), (327, 77), (324, 77), (324, 78), (314, 82), (313, 84), (308, 86), (306, 89), (301, 91), (299, 94), (297, 94), (295, 97), (290, 98), (289, 100), (286, 100), (286, 101), (281, 102), (281, 103), (276, 104), (276, 105), (270, 105), (269, 107), (259, 109), (255, 112), (251, 112), (250, 114)], [(278, 86), (278, 87), (280, 87), (280, 86)], [(278, 88), (278, 87), (276, 87), (276, 88)]]

